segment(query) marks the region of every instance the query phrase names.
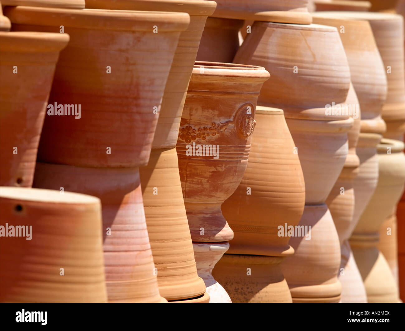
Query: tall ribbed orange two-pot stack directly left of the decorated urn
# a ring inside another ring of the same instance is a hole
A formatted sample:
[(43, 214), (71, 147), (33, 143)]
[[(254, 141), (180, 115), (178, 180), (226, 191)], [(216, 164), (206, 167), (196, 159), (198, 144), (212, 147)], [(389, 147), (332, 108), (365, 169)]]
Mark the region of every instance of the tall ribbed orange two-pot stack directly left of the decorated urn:
[[(190, 25), (181, 32), (158, 116), (151, 156), (140, 167), (143, 204), (160, 294), (167, 300), (207, 302), (205, 285), (198, 278), (179, 177), (176, 142), (187, 88), (207, 16), (215, 2), (201, 0), (89, 0), (87, 8), (181, 11)], [(210, 293), (211, 294), (211, 293)], [(215, 298), (211, 297), (211, 301)]]

